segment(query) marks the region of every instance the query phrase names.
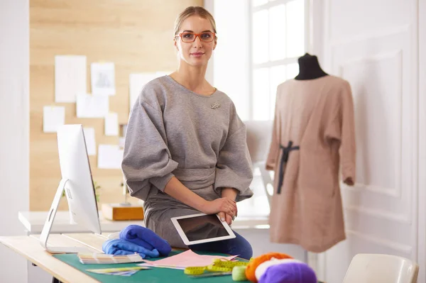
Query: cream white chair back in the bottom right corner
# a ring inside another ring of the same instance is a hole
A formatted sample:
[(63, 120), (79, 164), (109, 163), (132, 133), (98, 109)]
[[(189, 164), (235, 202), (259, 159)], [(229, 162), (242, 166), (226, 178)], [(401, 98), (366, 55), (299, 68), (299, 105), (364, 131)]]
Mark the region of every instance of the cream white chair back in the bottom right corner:
[(416, 283), (419, 267), (405, 257), (358, 254), (349, 265), (343, 283)]

